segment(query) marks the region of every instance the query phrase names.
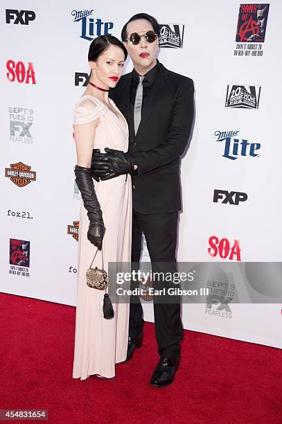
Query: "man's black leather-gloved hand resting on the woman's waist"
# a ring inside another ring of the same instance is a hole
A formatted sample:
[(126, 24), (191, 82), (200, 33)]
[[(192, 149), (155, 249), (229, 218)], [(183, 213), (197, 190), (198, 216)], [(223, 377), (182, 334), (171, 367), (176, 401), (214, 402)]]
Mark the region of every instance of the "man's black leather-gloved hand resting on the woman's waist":
[(127, 153), (109, 148), (105, 148), (105, 152), (107, 154), (94, 153), (91, 161), (92, 173), (100, 177), (101, 181), (134, 171), (134, 165)]

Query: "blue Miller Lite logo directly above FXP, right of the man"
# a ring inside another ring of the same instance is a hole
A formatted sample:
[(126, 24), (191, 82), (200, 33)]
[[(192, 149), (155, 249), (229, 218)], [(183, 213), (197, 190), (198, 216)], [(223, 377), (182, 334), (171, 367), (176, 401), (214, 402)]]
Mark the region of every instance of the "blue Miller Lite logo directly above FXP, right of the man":
[(239, 156), (258, 157), (258, 150), (261, 148), (260, 143), (249, 143), (246, 139), (238, 139), (237, 135), (240, 131), (215, 131), (217, 139), (215, 141), (224, 144), (224, 152), (222, 157), (235, 161)]

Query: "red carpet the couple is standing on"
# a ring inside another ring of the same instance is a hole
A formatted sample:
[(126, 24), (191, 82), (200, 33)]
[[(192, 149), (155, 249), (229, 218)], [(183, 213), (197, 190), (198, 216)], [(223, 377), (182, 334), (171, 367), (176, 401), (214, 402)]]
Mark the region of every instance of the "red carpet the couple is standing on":
[(75, 308), (10, 294), (0, 304), (0, 409), (49, 409), (49, 423), (68, 424), (282, 423), (279, 349), (185, 331), (175, 383), (157, 389), (148, 385), (158, 357), (146, 324), (116, 381), (80, 381), (71, 377)]

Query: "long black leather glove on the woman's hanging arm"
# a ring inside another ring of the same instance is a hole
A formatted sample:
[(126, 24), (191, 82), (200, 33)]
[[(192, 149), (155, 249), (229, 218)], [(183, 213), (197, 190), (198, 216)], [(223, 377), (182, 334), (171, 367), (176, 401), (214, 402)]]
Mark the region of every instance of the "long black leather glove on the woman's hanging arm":
[(101, 249), (105, 234), (105, 225), (100, 204), (95, 193), (91, 168), (76, 165), (74, 173), (76, 175), (76, 184), (81, 193), (83, 204), (90, 221), (87, 238), (98, 249)]

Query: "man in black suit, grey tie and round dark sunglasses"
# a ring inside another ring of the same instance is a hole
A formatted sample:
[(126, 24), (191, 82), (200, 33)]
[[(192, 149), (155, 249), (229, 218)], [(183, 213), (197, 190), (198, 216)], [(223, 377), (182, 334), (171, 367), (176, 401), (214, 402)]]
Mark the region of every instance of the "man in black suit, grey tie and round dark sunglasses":
[[(121, 38), (134, 70), (121, 77), (110, 97), (127, 119), (129, 150), (124, 153), (106, 149), (107, 155), (94, 154), (92, 167), (94, 175), (101, 179), (132, 175), (132, 263), (139, 264), (143, 232), (152, 271), (173, 273), (177, 272), (177, 221), (182, 208), (179, 157), (191, 133), (194, 90), (190, 78), (168, 71), (156, 59), (157, 35), (157, 20), (145, 13), (134, 15), (123, 27)], [(165, 281), (159, 282), (161, 285), (168, 286)], [(173, 382), (179, 360), (179, 297), (174, 302), (154, 299), (155, 333), (161, 357), (150, 384), (157, 387)], [(127, 360), (141, 346), (143, 337), (139, 297), (130, 301), (129, 335)]]

